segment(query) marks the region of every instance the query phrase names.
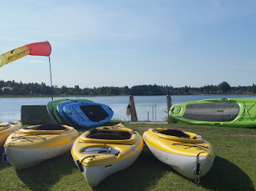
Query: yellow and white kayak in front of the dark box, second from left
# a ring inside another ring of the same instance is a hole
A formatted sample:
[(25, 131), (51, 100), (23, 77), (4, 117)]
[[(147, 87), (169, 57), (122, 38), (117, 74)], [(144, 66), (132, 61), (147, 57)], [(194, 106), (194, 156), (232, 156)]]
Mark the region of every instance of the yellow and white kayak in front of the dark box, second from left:
[(4, 155), (15, 169), (33, 167), (71, 151), (77, 137), (77, 130), (67, 125), (33, 125), (21, 128), (7, 138)]

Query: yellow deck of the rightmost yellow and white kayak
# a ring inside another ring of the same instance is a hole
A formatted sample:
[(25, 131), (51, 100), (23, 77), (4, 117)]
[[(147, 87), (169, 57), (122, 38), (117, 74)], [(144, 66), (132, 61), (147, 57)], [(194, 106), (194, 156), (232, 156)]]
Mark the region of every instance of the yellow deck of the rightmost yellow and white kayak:
[(166, 130), (166, 128), (149, 128), (148, 131), (144, 132), (143, 140), (146, 141), (146, 144), (171, 154), (195, 157), (202, 152), (200, 154), (202, 157), (215, 157), (212, 146), (208, 141), (203, 138), (193, 139), (197, 134), (184, 132), (189, 135), (189, 138), (178, 138), (159, 133), (163, 130)]

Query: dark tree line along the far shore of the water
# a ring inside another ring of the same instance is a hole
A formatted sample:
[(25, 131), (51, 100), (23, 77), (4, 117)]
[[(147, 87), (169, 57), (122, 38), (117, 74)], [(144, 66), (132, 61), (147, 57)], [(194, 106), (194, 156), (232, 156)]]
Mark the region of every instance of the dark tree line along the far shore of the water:
[[(1, 90), (2, 89), (2, 90)], [(0, 81), (0, 95), (180, 95), (180, 94), (214, 94), (214, 93), (256, 93), (256, 85), (231, 87), (227, 82), (218, 86), (208, 85), (202, 87), (172, 87), (158, 85), (139, 85), (124, 87), (102, 86), (81, 89), (78, 85), (73, 87), (47, 86), (45, 83), (17, 83)]]

